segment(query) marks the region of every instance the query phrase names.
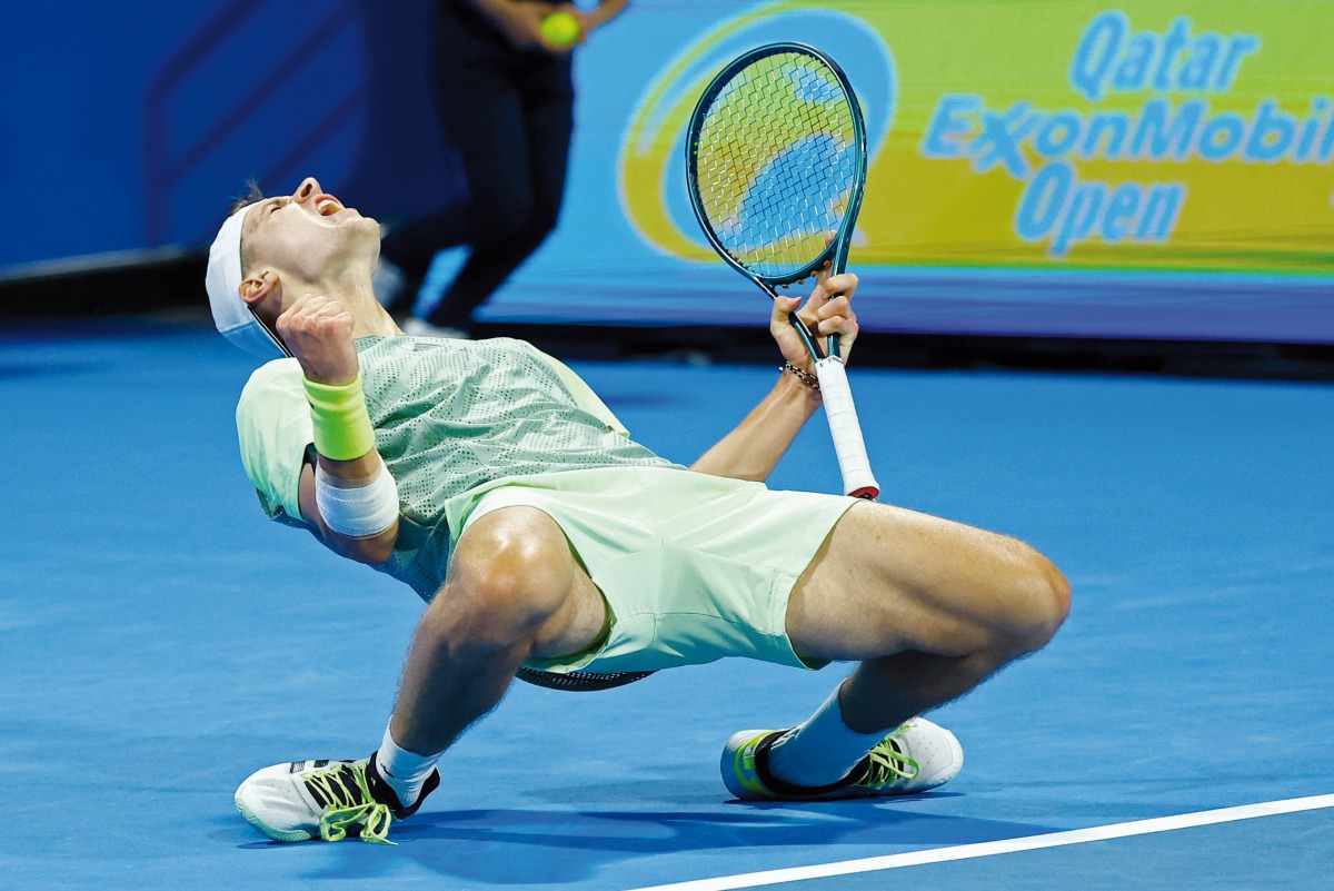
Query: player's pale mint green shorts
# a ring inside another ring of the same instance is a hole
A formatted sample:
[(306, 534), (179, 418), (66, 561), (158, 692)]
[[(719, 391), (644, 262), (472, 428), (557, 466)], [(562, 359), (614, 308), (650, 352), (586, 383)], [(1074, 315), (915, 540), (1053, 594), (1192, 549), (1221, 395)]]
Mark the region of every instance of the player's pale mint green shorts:
[[(596, 650), (530, 660), (543, 671), (651, 671), (747, 656), (818, 668), (792, 651), (787, 599), (856, 500), (666, 467), (510, 478), (451, 499), (460, 535), (526, 506), (550, 515), (602, 590), (611, 627)], [(458, 540), (458, 539), (455, 539)]]

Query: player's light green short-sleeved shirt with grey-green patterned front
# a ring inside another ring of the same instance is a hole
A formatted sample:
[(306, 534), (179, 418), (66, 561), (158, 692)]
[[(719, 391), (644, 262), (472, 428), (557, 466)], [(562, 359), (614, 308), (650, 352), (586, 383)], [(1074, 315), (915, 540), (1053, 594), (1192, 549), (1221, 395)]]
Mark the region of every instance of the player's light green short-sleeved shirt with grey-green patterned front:
[[(398, 543), (376, 568), (424, 599), (448, 568), (448, 499), (510, 476), (679, 467), (628, 439), (574, 372), (522, 340), (362, 337), (356, 348), (375, 444), (399, 488)], [(245, 471), (273, 519), (299, 516), (311, 441), (295, 364), (256, 371), (236, 412)]]

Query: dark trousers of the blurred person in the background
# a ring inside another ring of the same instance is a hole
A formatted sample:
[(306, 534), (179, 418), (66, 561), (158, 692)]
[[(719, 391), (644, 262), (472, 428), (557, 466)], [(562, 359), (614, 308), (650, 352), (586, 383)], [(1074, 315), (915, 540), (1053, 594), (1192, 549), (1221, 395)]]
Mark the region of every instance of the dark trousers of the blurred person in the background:
[(427, 316), (467, 329), (472, 311), (556, 225), (574, 129), (570, 57), (519, 53), (436, 7), (435, 103), (467, 195), (386, 237), (382, 251), (414, 293), (435, 253), (472, 249)]

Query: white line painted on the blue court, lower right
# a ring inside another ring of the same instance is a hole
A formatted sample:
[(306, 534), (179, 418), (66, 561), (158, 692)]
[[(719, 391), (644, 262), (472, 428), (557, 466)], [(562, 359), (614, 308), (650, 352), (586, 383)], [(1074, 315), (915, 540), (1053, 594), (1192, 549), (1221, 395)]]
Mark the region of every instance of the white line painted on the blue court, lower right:
[(1113, 823), (1110, 826), (1093, 826), (1086, 830), (1047, 832), (1046, 835), (1030, 835), (1019, 839), (1003, 839), (1000, 842), (978, 842), (975, 844), (958, 844), (947, 848), (932, 848), (930, 851), (911, 851), (908, 854), (890, 854), (886, 856), (871, 856), (871, 858), (863, 858), (860, 860), (842, 860), (839, 863), (824, 863), (820, 866), (799, 866), (787, 870), (743, 872), (740, 875), (727, 875), (718, 879), (674, 882), (671, 884), (655, 884), (644, 888), (634, 888), (634, 891), (731, 891), (732, 888), (754, 888), (762, 884), (800, 882), (803, 879), (824, 879), (834, 875), (851, 875), (854, 872), (876, 872), (879, 870), (898, 870), (904, 866), (920, 866), (923, 863), (946, 863), (948, 860), (968, 860), (979, 856), (1014, 854), (1017, 851), (1035, 851), (1038, 848), (1054, 848), (1066, 844), (1083, 844), (1086, 842), (1123, 839), (1131, 835), (1170, 832), (1173, 830), (1186, 830), (1195, 826), (1231, 823), (1234, 820), (1250, 820), (1257, 816), (1274, 816), (1277, 814), (1297, 814), (1299, 811), (1315, 811), (1326, 807), (1334, 807), (1334, 795), (1290, 798), (1282, 802), (1262, 802), (1259, 804), (1223, 807), (1217, 811), (1198, 811), (1195, 814), (1178, 814), (1175, 816), (1155, 816), (1149, 820)]

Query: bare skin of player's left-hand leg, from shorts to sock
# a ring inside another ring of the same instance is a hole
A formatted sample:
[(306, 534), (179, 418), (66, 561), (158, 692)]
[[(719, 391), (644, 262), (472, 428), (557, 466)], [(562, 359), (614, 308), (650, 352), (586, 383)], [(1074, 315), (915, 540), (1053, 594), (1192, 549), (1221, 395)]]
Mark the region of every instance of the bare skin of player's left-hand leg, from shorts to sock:
[(487, 514), (460, 536), (412, 636), (394, 739), (422, 755), (448, 748), (500, 702), (524, 659), (587, 648), (604, 619), (555, 520), (528, 507)]

